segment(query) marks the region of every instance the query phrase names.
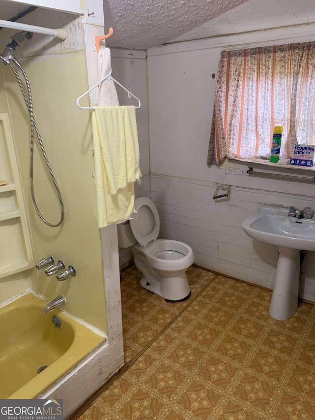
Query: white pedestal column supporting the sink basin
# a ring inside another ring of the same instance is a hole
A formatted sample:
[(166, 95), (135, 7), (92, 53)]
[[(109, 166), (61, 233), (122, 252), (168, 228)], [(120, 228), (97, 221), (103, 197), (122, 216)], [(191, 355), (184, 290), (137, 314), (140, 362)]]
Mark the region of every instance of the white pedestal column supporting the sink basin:
[(279, 260), (269, 315), (285, 321), (297, 311), (300, 278), (300, 250), (278, 247)]

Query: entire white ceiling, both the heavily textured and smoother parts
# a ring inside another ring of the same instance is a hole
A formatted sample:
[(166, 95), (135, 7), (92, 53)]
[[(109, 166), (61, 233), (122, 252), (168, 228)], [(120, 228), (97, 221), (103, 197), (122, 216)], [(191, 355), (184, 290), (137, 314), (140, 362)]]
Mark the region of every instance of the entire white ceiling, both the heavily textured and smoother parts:
[(106, 45), (161, 44), (315, 22), (314, 0), (103, 0)]

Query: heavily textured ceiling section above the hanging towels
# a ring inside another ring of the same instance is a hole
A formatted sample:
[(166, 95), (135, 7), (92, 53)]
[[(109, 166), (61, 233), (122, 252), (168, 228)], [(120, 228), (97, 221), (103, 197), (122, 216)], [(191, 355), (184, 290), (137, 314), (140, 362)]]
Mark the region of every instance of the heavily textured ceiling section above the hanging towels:
[(104, 0), (107, 45), (147, 49), (169, 42), (248, 0)]

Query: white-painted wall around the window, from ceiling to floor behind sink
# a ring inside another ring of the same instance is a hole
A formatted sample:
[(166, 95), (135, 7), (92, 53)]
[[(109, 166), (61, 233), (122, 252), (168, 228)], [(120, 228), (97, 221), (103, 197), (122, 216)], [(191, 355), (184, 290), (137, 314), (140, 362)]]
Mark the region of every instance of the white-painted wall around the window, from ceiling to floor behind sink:
[[(261, 204), (315, 207), (315, 186), (252, 178), (244, 163), (206, 164), (217, 68), (222, 49), (314, 40), (314, 27), (185, 42), (148, 50), (151, 198), (161, 238), (188, 243), (197, 264), (273, 288), (278, 250), (253, 241), (241, 223)], [(288, 37), (291, 39), (288, 39)], [(217, 183), (231, 186), (215, 202)], [(301, 270), (300, 295), (315, 301), (314, 254)]]

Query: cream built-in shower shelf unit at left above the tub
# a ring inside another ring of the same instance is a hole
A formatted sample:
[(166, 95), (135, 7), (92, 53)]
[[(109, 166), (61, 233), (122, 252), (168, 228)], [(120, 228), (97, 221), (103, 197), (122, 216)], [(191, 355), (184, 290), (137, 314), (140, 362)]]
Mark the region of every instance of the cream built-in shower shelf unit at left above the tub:
[(32, 240), (10, 120), (0, 113), (0, 278), (34, 266)]

